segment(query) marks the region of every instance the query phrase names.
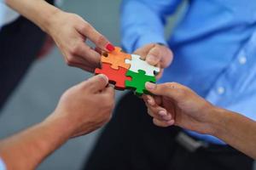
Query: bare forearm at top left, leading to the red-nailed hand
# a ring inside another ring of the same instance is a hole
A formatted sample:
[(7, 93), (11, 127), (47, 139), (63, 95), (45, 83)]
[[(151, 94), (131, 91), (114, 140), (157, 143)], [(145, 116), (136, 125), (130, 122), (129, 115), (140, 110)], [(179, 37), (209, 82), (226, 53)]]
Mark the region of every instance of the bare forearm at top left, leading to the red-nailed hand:
[(43, 31), (48, 31), (51, 18), (60, 11), (44, 0), (5, 0), (5, 3)]

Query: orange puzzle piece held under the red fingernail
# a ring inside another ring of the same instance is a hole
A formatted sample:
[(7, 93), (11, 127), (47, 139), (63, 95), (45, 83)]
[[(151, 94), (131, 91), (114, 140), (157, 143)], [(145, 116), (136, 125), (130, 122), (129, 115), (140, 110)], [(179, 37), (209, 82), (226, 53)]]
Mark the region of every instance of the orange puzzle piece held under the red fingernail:
[(122, 49), (115, 47), (110, 53), (102, 54), (102, 62), (111, 65), (111, 68), (118, 70), (119, 67), (130, 69), (131, 65), (125, 63), (125, 59), (131, 59), (131, 54), (125, 54)]

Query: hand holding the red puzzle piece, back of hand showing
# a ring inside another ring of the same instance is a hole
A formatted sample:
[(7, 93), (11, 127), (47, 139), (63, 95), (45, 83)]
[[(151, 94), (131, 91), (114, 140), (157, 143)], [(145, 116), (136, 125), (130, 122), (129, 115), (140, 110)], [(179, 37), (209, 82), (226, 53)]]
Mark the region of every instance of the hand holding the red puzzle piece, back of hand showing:
[(71, 127), (71, 137), (102, 127), (109, 121), (114, 105), (114, 90), (106, 88), (107, 85), (108, 77), (97, 75), (68, 89), (46, 121), (67, 120), (66, 128)]

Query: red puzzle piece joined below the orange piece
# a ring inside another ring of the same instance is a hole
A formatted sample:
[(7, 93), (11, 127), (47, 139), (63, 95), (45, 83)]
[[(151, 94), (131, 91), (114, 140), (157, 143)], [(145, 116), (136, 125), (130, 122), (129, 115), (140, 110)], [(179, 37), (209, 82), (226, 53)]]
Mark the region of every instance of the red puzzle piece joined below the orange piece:
[(113, 68), (111, 68), (110, 64), (102, 63), (102, 68), (97, 68), (95, 70), (95, 73), (106, 75), (109, 79), (109, 82), (114, 84), (116, 89), (125, 90), (125, 80), (131, 81), (131, 77), (125, 76), (127, 71), (127, 69), (122, 67), (119, 67), (118, 70), (114, 70)]

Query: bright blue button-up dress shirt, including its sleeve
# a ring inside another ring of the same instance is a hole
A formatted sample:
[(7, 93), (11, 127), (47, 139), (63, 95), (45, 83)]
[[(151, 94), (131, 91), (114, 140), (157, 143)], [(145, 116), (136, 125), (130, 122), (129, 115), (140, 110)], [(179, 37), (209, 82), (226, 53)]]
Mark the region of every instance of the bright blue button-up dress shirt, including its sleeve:
[[(255, 0), (190, 0), (170, 38), (166, 17), (181, 0), (125, 0), (122, 45), (128, 52), (152, 42), (172, 48), (174, 60), (160, 82), (180, 82), (213, 105), (256, 120)], [(213, 144), (210, 135), (188, 131)]]

